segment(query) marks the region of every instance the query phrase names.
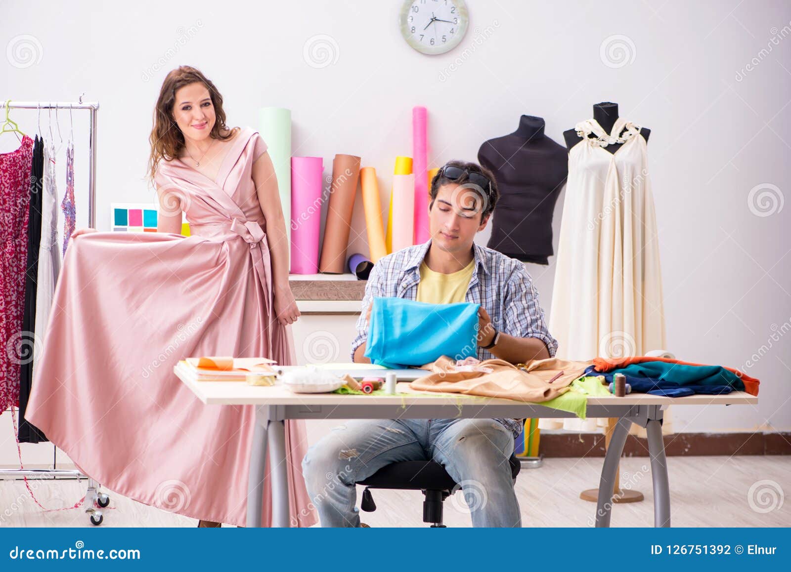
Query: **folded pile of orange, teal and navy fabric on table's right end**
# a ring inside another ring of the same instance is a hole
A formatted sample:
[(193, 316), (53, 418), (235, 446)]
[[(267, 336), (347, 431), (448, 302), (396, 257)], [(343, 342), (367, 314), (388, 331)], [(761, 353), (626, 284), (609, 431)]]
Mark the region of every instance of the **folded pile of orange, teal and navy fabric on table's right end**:
[(758, 395), (759, 380), (731, 367), (710, 366), (660, 357), (623, 359), (596, 358), (586, 375), (604, 375), (612, 382), (615, 374), (624, 374), (633, 392), (664, 397), (683, 397), (701, 393), (721, 395), (745, 391)]

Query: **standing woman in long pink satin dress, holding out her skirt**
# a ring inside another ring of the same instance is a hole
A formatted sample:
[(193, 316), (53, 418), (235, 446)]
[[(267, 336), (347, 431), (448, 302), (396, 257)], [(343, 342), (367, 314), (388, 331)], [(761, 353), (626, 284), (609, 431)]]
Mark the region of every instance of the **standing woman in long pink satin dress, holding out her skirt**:
[[(188, 66), (165, 78), (150, 142), (158, 232), (74, 232), (26, 418), (112, 491), (199, 526), (244, 525), (255, 412), (202, 405), (172, 368), (188, 356), (294, 362), (277, 180), (259, 134), (225, 126), (219, 92)], [(305, 424), (286, 427), (292, 522), (309, 526)]]

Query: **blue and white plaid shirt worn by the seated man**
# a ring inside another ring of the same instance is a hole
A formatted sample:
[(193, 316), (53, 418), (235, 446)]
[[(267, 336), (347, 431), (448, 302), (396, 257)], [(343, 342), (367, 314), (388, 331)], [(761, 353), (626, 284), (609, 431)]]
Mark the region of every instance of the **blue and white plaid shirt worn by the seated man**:
[[(365, 314), (374, 298), (397, 297), (414, 300), (418, 296), (420, 264), (429, 250), (431, 240), (424, 244), (409, 246), (388, 254), (377, 262), (365, 285), (362, 310), (357, 321), (357, 337), (351, 344), (351, 356), (368, 339), (368, 323)], [(473, 243), (475, 269), (467, 286), (465, 302), (481, 304), (492, 320), (494, 328), (514, 337), (536, 337), (547, 344), (549, 355), (558, 349), (547, 329), (544, 312), (539, 306), (539, 292), (524, 268), (524, 264), (496, 250)], [(478, 359), (495, 356), (478, 348)], [(522, 420), (498, 419), (509, 428), (514, 437), (522, 430)]]

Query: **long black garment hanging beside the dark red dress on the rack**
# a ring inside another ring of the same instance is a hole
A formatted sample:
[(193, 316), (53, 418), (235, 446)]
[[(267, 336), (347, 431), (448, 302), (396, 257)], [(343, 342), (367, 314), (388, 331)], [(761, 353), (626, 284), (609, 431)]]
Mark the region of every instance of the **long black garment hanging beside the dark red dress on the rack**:
[(25, 421), (33, 381), (33, 348), (36, 347), (36, 288), (41, 246), (41, 198), (44, 194), (44, 139), (36, 135), (30, 170), (30, 205), (28, 208), (28, 259), (25, 265), (25, 307), (22, 310), (22, 363), (19, 366), (19, 431), (23, 443), (48, 441), (38, 427)]

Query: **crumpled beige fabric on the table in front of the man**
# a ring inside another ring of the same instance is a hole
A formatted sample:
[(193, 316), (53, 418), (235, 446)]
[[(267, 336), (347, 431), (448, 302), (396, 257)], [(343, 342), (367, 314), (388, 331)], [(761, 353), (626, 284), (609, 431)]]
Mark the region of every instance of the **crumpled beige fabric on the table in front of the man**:
[[(592, 362), (575, 362), (568, 359), (534, 359), (525, 364), (525, 371), (502, 359), (485, 359), (480, 367), (490, 367), (491, 373), (482, 371), (456, 371), (456, 362), (442, 356), (433, 363), (422, 366), (432, 373), (411, 382), (412, 389), (442, 393), (464, 393), (483, 397), (501, 397), (525, 403), (542, 403), (568, 391), (571, 382), (581, 377), (585, 367)], [(562, 374), (549, 383), (558, 373)]]

